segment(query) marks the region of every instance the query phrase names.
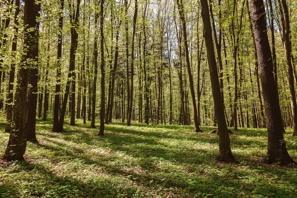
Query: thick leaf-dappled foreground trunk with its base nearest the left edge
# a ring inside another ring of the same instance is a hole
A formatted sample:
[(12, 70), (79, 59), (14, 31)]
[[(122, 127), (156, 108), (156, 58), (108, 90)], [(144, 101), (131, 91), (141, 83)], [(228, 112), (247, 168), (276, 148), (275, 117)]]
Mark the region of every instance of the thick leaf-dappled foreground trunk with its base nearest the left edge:
[[(39, 22), (36, 18), (39, 16), (40, 3), (36, 4), (32, 0), (25, 0), (24, 7), (24, 24), (25, 41), (24, 46), (27, 53), (23, 57), (22, 64), (19, 66), (17, 88), (15, 94), (15, 105), (13, 113), (13, 124), (11, 125), (8, 145), (5, 150), (3, 159), (7, 161), (23, 160), (27, 146), (28, 130), (28, 82), (29, 82), (29, 65), (38, 63), (38, 41), (39, 41)], [(31, 29), (29, 32), (28, 30)], [(30, 62), (29, 62), (30, 60)], [(30, 109), (31, 111), (31, 109)], [(36, 109), (35, 109), (36, 113)]]

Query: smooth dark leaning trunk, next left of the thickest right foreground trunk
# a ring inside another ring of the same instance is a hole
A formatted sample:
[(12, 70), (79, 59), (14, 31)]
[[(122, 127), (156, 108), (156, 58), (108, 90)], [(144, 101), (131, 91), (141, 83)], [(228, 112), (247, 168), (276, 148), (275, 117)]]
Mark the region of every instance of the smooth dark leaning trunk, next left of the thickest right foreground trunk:
[(230, 139), (228, 128), (224, 115), (224, 104), (220, 92), (219, 76), (215, 61), (215, 53), (212, 42), (211, 25), (208, 12), (207, 0), (201, 0), (201, 16), (204, 26), (204, 40), (207, 51), (208, 66), (210, 72), (210, 81), (212, 88), (212, 96), (214, 101), (215, 115), (218, 123), (219, 131), (219, 155), (218, 160), (234, 161), (234, 157), (230, 148)]

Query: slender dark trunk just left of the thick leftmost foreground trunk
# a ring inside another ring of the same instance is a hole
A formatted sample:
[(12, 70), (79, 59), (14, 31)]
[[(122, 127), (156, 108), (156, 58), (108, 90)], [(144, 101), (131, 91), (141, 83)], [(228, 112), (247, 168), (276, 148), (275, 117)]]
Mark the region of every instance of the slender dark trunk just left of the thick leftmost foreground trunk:
[[(17, 34), (18, 34), (18, 15), (20, 12), (20, 0), (15, 0), (15, 13), (14, 13), (14, 35), (12, 39), (12, 47), (11, 52), (14, 54), (17, 49)], [(13, 108), (13, 83), (14, 83), (14, 73), (15, 73), (15, 59), (13, 60), (12, 64), (10, 65), (9, 70), (9, 84), (8, 84), (8, 95), (7, 95), (7, 111), (6, 111), (6, 125), (5, 125), (5, 132), (9, 133), (11, 129), (11, 122), (12, 122), (12, 108)]]

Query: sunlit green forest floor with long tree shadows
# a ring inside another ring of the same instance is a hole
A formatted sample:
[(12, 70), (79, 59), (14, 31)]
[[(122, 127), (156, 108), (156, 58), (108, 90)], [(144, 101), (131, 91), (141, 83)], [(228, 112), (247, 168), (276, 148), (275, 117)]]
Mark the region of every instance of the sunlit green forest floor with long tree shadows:
[[(0, 120), (0, 154), (9, 134)], [(0, 198), (295, 197), (297, 167), (263, 163), (265, 129), (239, 128), (230, 136), (237, 163), (215, 161), (213, 127), (133, 124), (88, 128), (77, 121), (51, 133), (52, 120), (37, 121), (39, 143), (28, 143), (26, 161), (0, 160)], [(98, 126), (98, 124), (97, 124)], [(297, 160), (297, 139), (285, 135)]]

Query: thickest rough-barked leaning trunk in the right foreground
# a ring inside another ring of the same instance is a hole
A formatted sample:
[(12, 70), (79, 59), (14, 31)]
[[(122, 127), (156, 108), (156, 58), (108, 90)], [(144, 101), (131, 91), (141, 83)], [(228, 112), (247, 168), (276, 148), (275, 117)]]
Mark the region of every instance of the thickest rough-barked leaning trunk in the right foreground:
[(276, 92), (273, 75), (272, 56), (267, 36), (265, 8), (263, 0), (251, 0), (251, 15), (260, 66), (260, 78), (266, 112), (268, 152), (267, 163), (279, 162), (282, 165), (295, 163), (290, 157), (283, 136), (281, 123), (280, 102)]

